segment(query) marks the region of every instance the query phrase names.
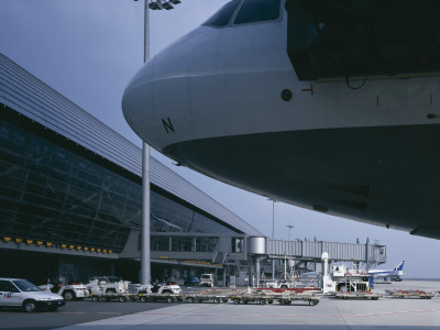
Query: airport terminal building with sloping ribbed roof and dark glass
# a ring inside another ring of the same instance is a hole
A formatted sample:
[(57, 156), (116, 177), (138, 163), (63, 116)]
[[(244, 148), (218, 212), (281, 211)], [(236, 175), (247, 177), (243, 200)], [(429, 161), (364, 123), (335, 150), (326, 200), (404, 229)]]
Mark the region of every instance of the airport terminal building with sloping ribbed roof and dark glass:
[[(141, 148), (2, 54), (0, 112), (0, 276), (138, 282)], [(264, 238), (153, 157), (151, 233), (153, 279), (222, 272)]]

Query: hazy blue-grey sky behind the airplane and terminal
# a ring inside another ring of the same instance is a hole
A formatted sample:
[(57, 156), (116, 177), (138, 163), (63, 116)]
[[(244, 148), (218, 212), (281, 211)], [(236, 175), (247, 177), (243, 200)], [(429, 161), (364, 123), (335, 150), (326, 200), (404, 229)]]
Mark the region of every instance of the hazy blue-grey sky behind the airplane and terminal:
[[(229, 0), (182, 0), (170, 11), (150, 11), (151, 56), (200, 25)], [(143, 0), (0, 0), (0, 52), (141, 146), (121, 110), (122, 94), (143, 63)], [(152, 155), (272, 237), (272, 201), (216, 182), (152, 150)], [(387, 246), (405, 277), (440, 278), (440, 240), (275, 204), (275, 239)], [(294, 228), (289, 231), (286, 226)]]

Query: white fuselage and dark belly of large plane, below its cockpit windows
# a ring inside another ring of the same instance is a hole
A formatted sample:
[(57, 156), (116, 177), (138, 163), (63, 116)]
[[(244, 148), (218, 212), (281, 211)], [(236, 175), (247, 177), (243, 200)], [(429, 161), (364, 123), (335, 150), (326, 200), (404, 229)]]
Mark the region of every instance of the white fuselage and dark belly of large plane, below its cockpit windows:
[(427, 143), (437, 136), (440, 79), (299, 81), (286, 40), (283, 6), (276, 21), (202, 25), (142, 67), (124, 92), (124, 117), (154, 148), (222, 182), (440, 237), (440, 210), (426, 212), (440, 201), (439, 175), (424, 183), (438, 161)]

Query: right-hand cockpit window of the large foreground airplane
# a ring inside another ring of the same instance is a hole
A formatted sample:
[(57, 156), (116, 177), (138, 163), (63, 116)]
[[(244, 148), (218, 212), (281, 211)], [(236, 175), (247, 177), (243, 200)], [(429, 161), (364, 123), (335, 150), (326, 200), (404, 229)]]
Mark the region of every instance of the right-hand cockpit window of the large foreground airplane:
[(279, 0), (245, 0), (234, 24), (274, 21), (279, 16)]

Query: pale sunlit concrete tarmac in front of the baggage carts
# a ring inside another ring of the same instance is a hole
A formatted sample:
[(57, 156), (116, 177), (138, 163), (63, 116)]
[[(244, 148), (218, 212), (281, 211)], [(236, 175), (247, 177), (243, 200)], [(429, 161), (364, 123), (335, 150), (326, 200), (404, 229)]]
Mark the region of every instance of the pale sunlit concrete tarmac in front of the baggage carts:
[(234, 330), (234, 329), (440, 329), (440, 280), (404, 280), (376, 284), (374, 292), (419, 289), (436, 293), (432, 299), (378, 300), (322, 297), (317, 306), (173, 304), (64, 330)]

